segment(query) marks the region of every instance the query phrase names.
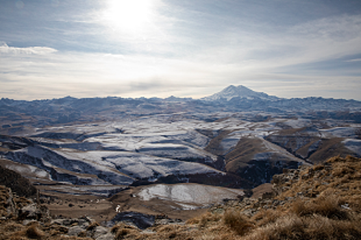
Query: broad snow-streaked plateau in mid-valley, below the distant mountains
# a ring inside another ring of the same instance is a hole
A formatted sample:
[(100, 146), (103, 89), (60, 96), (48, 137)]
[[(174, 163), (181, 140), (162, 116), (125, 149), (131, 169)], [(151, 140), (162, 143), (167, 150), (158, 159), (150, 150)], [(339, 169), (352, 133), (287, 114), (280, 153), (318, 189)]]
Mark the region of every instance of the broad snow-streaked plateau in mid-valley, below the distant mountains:
[(140, 152), (151, 156), (216, 160), (216, 156), (204, 151), (211, 138), (201, 134), (201, 130), (210, 130), (214, 134), (220, 131), (230, 132), (221, 141), (226, 153), (241, 137), (262, 137), (279, 129), (268, 123), (250, 123), (234, 117), (210, 123), (196, 119), (179, 119), (164, 123), (164, 117), (142, 117), (132, 122), (113, 123), (114, 127), (122, 129), (123, 133), (103, 134), (86, 141), (101, 143), (109, 149)]

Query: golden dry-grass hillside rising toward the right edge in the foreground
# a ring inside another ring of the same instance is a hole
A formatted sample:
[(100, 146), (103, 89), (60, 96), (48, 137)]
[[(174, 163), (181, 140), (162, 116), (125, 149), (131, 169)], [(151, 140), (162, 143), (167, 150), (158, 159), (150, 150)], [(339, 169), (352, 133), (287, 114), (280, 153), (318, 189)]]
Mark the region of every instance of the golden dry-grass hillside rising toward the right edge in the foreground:
[(229, 200), (185, 226), (113, 229), (124, 239), (360, 239), (360, 172), (361, 158), (330, 158), (275, 176), (273, 193)]

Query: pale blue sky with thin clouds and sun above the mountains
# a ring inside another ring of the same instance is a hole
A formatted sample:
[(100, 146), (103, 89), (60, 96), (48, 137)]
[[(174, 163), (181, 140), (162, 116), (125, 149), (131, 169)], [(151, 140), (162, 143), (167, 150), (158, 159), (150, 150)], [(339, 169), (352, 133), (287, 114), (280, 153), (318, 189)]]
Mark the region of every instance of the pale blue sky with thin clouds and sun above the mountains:
[(361, 100), (360, 0), (0, 0), (0, 98)]

